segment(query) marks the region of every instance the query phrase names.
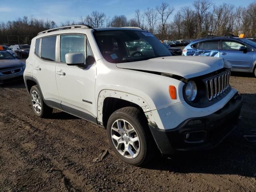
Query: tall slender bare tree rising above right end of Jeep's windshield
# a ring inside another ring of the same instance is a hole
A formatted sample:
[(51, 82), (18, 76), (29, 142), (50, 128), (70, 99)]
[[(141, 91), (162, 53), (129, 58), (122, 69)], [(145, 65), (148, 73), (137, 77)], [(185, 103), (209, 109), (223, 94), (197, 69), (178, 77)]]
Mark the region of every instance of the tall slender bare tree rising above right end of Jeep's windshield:
[(162, 40), (163, 32), (165, 30), (164, 27), (165, 27), (166, 21), (168, 20), (169, 16), (174, 11), (174, 8), (170, 7), (168, 3), (162, 2), (162, 4), (160, 6), (156, 6), (156, 11), (160, 15), (160, 20), (161, 20), (161, 25), (162, 25), (160, 40)]

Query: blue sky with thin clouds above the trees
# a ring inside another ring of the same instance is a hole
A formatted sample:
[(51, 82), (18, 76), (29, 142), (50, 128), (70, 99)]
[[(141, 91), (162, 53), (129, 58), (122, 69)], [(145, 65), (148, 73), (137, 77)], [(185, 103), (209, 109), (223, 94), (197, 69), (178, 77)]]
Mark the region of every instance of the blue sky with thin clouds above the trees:
[[(0, 22), (16, 20), (23, 16), (33, 16), (38, 19), (54, 20), (57, 24), (67, 20), (78, 22), (80, 17), (85, 17), (92, 11), (104, 12), (106, 16), (125, 15), (128, 19), (134, 17), (134, 11), (153, 8), (160, 4), (160, 0), (7, 0), (0, 3)], [(182, 6), (192, 6), (191, 0), (164, 0), (174, 7), (174, 14)], [(223, 0), (212, 1), (217, 5)], [(227, 4), (235, 6), (248, 6), (254, 0), (225, 0)]]

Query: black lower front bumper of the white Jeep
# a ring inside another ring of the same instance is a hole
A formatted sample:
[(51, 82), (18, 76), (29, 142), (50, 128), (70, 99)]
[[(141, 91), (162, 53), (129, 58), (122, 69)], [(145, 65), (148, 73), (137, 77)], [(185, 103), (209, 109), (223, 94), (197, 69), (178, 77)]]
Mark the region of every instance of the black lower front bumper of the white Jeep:
[(205, 150), (214, 148), (240, 123), (242, 96), (236, 94), (217, 112), (190, 118), (174, 129), (162, 130), (149, 124), (150, 130), (162, 154), (173, 150)]

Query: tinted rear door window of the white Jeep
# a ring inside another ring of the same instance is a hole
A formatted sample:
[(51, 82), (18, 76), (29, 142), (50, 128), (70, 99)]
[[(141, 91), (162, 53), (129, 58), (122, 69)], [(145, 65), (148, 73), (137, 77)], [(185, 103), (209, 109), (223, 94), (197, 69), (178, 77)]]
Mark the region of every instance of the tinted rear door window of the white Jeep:
[(56, 36), (42, 38), (41, 58), (55, 61)]

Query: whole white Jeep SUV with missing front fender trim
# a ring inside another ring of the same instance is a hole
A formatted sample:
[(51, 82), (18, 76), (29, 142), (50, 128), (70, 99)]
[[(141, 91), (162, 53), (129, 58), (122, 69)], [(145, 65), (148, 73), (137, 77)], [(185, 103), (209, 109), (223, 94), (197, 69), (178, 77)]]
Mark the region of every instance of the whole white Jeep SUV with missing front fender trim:
[(171, 56), (140, 28), (76, 25), (32, 39), (24, 80), (34, 113), (57, 108), (107, 128), (125, 162), (213, 148), (238, 124), (242, 97), (222, 58)]

